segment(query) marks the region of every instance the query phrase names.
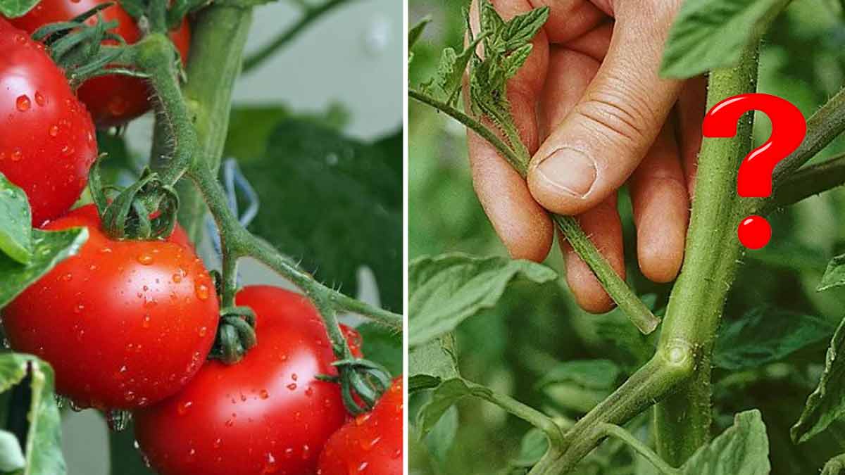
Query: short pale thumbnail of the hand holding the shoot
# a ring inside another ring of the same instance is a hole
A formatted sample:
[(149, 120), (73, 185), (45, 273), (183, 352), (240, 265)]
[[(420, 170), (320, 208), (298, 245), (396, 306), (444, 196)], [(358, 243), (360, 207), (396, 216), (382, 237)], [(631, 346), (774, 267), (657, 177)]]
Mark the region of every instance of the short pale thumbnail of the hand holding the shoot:
[(537, 175), (564, 193), (584, 198), (596, 182), (596, 163), (580, 150), (554, 150), (537, 165)]

